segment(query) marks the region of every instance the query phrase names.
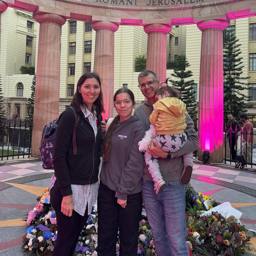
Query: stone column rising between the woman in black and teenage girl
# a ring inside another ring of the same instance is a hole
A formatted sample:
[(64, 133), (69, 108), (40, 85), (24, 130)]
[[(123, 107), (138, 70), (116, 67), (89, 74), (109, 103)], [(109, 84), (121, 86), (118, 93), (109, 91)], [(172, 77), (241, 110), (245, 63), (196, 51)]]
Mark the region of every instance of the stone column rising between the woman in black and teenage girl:
[(94, 72), (101, 78), (101, 89), (104, 99), (105, 114), (103, 120), (113, 115), (114, 95), (114, 33), (119, 24), (110, 21), (92, 22), (96, 31)]

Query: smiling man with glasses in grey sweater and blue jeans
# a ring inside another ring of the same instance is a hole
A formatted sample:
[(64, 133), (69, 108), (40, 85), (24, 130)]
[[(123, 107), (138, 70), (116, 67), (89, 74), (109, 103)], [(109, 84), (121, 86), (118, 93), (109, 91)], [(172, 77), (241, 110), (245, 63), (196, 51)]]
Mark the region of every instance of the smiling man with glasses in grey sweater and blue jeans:
[[(134, 115), (149, 129), (149, 116), (156, 102), (155, 94), (159, 87), (157, 76), (152, 71), (143, 71), (138, 76), (138, 87), (147, 98), (138, 106)], [(144, 166), (142, 176), (142, 197), (148, 221), (154, 237), (156, 254), (160, 256), (188, 256), (185, 242), (187, 236), (185, 219), (185, 185), (180, 183), (180, 176), (184, 169), (182, 155), (198, 149), (199, 141), (194, 123), (189, 115), (186, 120), (187, 142), (182, 149), (174, 153), (164, 152), (156, 141), (149, 146), (149, 152), (158, 157), (160, 172), (166, 185), (162, 192), (156, 194), (154, 182)]]

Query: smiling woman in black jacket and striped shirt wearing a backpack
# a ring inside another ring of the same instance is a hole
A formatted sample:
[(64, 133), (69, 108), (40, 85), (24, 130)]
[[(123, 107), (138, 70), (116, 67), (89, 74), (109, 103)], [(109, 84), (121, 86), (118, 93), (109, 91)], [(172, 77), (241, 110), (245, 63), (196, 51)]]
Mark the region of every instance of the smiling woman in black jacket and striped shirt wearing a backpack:
[[(105, 112), (100, 78), (82, 75), (71, 107), (79, 115), (75, 128), (77, 153), (73, 148), (75, 114), (61, 113), (53, 150), (54, 175), (50, 181), (51, 203), (56, 212), (58, 239), (53, 256), (72, 256), (98, 194), (101, 156), (101, 113)], [(76, 153), (76, 154), (75, 154)]]

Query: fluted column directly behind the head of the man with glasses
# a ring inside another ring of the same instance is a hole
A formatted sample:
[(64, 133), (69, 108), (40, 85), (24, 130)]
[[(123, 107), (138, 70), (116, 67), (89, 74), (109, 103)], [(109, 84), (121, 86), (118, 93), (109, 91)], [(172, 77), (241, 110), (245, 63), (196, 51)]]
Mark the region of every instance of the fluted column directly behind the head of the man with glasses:
[(166, 79), (166, 35), (171, 26), (166, 24), (149, 24), (144, 26), (148, 34), (146, 70), (156, 73), (161, 82)]

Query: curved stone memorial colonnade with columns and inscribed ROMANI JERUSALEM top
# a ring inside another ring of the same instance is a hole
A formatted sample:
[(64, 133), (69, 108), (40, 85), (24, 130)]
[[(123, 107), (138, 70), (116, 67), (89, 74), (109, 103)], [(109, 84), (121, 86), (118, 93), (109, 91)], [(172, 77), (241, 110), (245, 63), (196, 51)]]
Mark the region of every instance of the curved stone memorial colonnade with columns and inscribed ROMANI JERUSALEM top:
[(255, 0), (5, 0), (0, 1), (0, 20), (7, 6), (33, 12), (40, 23), (32, 156), (39, 155), (43, 126), (59, 113), (60, 28), (72, 19), (91, 21), (96, 30), (94, 71), (103, 80), (106, 118), (112, 113), (114, 32), (119, 25), (144, 27), (148, 34), (146, 68), (163, 81), (166, 34), (171, 25), (197, 24), (202, 31), (199, 155), (207, 150), (212, 162), (223, 161), (222, 30), (231, 19), (255, 16)]

